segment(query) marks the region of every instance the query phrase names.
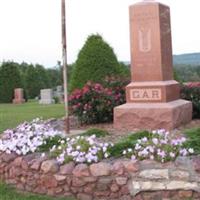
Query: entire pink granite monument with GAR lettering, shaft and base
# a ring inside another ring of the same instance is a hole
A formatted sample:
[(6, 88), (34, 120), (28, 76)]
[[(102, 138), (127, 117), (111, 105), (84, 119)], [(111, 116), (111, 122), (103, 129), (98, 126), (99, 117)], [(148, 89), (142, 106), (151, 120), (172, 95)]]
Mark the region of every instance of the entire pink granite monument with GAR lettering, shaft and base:
[(130, 6), (131, 83), (114, 109), (118, 129), (174, 129), (192, 119), (173, 80), (170, 9), (155, 1)]

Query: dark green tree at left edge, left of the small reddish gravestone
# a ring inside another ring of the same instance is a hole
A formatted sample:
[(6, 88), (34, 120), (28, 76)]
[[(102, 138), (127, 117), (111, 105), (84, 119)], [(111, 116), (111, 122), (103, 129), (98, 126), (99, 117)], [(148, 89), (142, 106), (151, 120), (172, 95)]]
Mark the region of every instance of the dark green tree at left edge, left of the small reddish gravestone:
[(18, 64), (4, 62), (0, 67), (0, 103), (11, 103), (14, 89), (22, 86)]

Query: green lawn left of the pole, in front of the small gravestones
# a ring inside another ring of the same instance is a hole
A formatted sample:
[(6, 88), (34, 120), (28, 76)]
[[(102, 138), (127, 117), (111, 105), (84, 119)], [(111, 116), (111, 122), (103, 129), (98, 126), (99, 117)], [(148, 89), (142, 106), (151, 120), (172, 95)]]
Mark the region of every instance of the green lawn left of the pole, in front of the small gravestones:
[(19, 123), (30, 121), (36, 117), (60, 118), (64, 116), (64, 104), (40, 105), (30, 101), (21, 105), (0, 104), (0, 133), (8, 128), (14, 128)]

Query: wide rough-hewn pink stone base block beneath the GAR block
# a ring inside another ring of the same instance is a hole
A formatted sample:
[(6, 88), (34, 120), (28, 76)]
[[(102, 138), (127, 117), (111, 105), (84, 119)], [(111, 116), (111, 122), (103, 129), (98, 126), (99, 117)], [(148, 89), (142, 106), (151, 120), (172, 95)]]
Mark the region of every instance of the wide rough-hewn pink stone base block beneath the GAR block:
[(117, 129), (172, 130), (192, 119), (192, 103), (182, 99), (167, 103), (126, 103), (114, 108)]

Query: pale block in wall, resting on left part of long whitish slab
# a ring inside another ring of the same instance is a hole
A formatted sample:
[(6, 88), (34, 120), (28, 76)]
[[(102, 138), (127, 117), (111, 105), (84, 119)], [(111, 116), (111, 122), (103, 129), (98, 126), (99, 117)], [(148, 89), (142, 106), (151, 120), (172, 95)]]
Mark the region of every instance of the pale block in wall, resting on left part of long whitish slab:
[(169, 179), (168, 169), (149, 169), (139, 173), (139, 177), (145, 179)]

